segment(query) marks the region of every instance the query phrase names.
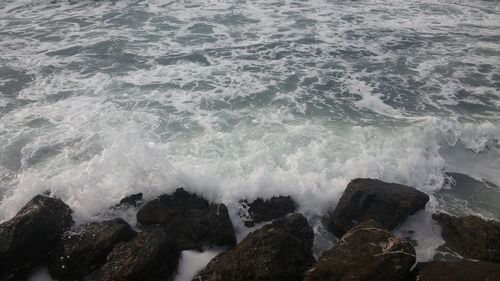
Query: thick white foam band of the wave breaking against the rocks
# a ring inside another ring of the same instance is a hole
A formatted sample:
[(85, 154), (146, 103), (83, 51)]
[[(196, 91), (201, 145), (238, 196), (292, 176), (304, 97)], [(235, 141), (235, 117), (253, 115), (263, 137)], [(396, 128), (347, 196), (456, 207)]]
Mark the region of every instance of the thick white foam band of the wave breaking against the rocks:
[[(162, 143), (135, 118), (117, 126), (111, 122), (117, 116), (110, 115), (110, 124), (100, 123), (99, 135), (92, 138), (64, 144), (62, 135), (62, 140), (38, 139), (26, 145), (23, 161), (44, 143), (62, 143), (62, 148), (43, 165), (27, 166), (17, 174), (15, 188), (1, 203), (3, 219), (41, 192), (61, 197), (77, 219), (87, 221), (128, 194), (144, 192), (153, 198), (181, 186), (230, 205), (241, 198), (291, 195), (303, 212), (320, 215), (353, 178), (379, 178), (427, 193), (439, 190), (445, 180), (447, 163), (440, 148), (449, 145), (437, 120), (397, 130), (281, 122), (274, 124), (276, 133), (267, 124)], [(476, 131), (475, 136), (484, 133)]]

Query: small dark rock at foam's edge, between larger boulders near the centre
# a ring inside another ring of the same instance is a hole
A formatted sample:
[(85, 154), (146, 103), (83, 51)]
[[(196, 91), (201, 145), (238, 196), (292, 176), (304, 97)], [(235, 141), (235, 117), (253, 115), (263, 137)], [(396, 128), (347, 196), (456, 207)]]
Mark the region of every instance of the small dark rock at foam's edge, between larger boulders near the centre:
[(252, 203), (248, 203), (246, 200), (240, 203), (247, 207), (248, 216), (242, 216), (247, 227), (252, 227), (256, 223), (282, 218), (296, 211), (295, 202), (290, 196), (272, 197), (268, 200), (257, 198)]

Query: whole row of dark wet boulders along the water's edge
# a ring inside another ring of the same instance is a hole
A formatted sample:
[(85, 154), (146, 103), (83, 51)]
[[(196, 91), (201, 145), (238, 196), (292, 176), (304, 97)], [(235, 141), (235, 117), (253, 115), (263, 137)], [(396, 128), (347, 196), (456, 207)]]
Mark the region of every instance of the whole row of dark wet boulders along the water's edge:
[(316, 261), (313, 230), (286, 196), (242, 200), (246, 226), (270, 223), (237, 243), (227, 207), (182, 188), (148, 202), (134, 194), (112, 207), (139, 208), (139, 231), (119, 218), (72, 229), (69, 206), (37, 195), (0, 225), (0, 281), (26, 280), (40, 266), (54, 280), (173, 280), (181, 251), (217, 246), (227, 250), (193, 281), (500, 280), (500, 223), (479, 217), (434, 214), (444, 247), (462, 259), (416, 263), (412, 241), (391, 230), (428, 201), (412, 187), (351, 181), (322, 219), (338, 241)]

